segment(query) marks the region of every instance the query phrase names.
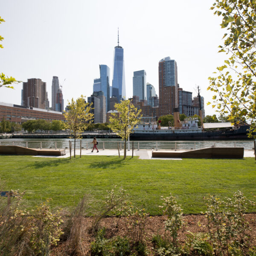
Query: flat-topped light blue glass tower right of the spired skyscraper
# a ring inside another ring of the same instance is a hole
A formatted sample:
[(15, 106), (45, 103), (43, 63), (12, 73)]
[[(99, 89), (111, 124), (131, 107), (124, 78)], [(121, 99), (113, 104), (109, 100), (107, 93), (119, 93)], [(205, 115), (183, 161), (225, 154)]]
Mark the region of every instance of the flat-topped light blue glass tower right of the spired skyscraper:
[(145, 70), (134, 71), (133, 96), (139, 96), (139, 100), (147, 98), (147, 74)]

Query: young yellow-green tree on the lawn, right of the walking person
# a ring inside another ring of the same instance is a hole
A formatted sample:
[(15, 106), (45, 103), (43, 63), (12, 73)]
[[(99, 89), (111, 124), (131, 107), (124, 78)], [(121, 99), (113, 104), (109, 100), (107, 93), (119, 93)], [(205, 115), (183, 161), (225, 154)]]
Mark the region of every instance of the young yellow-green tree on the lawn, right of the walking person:
[(125, 140), (124, 146), (124, 159), (126, 158), (126, 141), (133, 128), (140, 122), (141, 110), (135, 108), (129, 100), (123, 100), (115, 104), (115, 110), (118, 113), (112, 113), (109, 118), (109, 127), (115, 132), (122, 140)]

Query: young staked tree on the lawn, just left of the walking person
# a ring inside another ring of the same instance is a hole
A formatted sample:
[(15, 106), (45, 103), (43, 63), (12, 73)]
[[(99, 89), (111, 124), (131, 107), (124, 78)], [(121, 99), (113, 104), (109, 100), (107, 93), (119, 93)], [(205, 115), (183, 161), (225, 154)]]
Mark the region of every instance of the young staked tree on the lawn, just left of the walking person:
[(81, 139), (81, 133), (87, 128), (93, 119), (90, 113), (92, 104), (85, 103), (84, 96), (81, 95), (76, 101), (72, 98), (68, 101), (68, 112), (64, 112), (66, 119), (66, 129), (70, 130), (70, 138), (74, 138), (74, 157), (76, 157), (76, 139)]

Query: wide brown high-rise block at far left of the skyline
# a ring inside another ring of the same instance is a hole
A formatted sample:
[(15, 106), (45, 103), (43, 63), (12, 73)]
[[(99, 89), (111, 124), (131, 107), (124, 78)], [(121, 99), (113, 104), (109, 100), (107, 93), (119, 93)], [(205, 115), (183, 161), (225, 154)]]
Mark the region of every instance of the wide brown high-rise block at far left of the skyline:
[(25, 107), (46, 109), (48, 102), (46, 83), (36, 78), (23, 82), (22, 102)]

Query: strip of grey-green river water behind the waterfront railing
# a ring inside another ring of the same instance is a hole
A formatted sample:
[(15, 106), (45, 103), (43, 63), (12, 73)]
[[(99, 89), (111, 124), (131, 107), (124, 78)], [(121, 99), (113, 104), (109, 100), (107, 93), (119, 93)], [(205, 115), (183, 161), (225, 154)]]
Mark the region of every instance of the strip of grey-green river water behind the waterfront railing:
[[(66, 148), (69, 146), (70, 139), (0, 139), (0, 145), (19, 145), (28, 148)], [(72, 141), (72, 147), (74, 140)], [(102, 148), (123, 148), (123, 141), (120, 139), (99, 139), (98, 147)], [(92, 139), (82, 139), (81, 146), (83, 148), (91, 148)], [(244, 149), (253, 149), (253, 140), (195, 140), (195, 141), (134, 141), (135, 149), (198, 149), (206, 147), (243, 147)], [(76, 148), (80, 147), (80, 140), (76, 140)], [(130, 141), (132, 147), (132, 140)]]

